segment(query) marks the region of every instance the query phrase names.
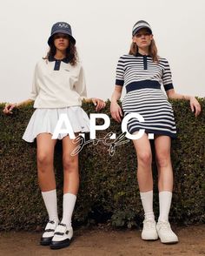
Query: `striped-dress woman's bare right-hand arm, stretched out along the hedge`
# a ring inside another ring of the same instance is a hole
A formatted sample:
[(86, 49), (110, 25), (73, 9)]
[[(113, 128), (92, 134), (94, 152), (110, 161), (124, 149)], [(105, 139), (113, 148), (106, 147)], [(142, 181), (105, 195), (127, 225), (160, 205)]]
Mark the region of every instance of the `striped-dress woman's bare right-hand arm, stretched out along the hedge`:
[(189, 100), (191, 111), (195, 111), (195, 117), (197, 117), (200, 114), (201, 105), (199, 104), (198, 100), (195, 97), (176, 93), (174, 89), (171, 89), (166, 92), (167, 92), (168, 98)]

